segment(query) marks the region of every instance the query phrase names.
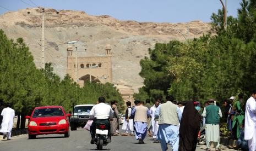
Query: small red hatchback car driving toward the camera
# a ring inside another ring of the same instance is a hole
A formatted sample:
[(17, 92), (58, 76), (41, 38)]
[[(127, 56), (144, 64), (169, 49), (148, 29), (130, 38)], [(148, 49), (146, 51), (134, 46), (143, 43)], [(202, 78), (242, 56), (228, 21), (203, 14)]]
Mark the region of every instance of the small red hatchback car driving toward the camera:
[(64, 134), (69, 137), (69, 121), (62, 106), (36, 107), (29, 119), (28, 133), (29, 139), (36, 138), (36, 135), (43, 134)]

